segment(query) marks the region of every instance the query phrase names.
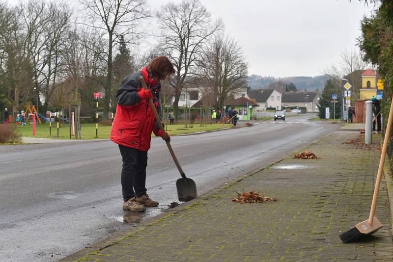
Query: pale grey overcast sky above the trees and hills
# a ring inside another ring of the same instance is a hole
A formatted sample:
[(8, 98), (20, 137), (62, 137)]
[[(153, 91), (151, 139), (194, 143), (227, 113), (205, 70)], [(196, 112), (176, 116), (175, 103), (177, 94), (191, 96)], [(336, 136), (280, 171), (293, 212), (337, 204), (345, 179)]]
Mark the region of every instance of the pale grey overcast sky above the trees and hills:
[[(169, 1), (181, 0), (147, 0), (153, 10)], [(78, 0), (68, 2), (76, 9), (80, 6)], [(359, 0), (201, 2), (212, 18), (221, 18), (225, 31), (240, 42), (249, 75), (273, 77), (323, 74), (324, 69), (339, 63), (341, 52), (358, 50), (360, 21), (374, 8)], [(145, 46), (154, 42), (148, 39)]]

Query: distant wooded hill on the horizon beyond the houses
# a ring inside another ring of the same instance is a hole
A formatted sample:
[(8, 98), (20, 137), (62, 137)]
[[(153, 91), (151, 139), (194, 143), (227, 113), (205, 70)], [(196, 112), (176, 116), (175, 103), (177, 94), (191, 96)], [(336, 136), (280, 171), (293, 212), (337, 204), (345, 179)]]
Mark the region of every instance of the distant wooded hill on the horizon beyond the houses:
[(276, 81), (292, 82), (296, 85), (298, 90), (307, 89), (307, 91), (315, 91), (319, 89), (322, 91), (326, 81), (329, 79), (328, 75), (316, 76), (316, 77), (287, 77), (287, 78), (275, 78), (275, 77), (262, 77), (259, 75), (251, 75), (248, 77), (249, 86), (252, 89), (258, 89), (260, 86), (266, 88), (270, 83)]

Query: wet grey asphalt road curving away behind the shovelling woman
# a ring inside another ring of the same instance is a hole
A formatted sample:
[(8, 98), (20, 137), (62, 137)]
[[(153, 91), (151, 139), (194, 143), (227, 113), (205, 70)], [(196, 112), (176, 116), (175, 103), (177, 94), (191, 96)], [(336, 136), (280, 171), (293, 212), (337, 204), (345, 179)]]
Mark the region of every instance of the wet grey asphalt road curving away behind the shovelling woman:
[[(176, 136), (171, 144), (201, 194), (340, 127), (310, 117)], [(121, 209), (121, 157), (111, 141), (0, 148), (0, 166), (0, 261), (56, 261), (177, 201), (180, 175), (161, 138), (152, 139), (146, 181), (160, 206), (142, 214)]]

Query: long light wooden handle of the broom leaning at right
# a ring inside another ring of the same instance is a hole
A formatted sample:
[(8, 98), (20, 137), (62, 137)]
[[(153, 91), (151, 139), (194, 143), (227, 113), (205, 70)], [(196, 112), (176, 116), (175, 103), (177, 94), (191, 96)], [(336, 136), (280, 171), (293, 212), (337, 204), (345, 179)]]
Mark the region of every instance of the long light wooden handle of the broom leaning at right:
[(391, 130), (392, 130), (393, 98), (391, 98), (391, 99), (392, 99), (392, 103), (390, 105), (388, 125), (386, 127), (384, 144), (382, 146), (381, 159), (379, 160), (378, 175), (377, 175), (377, 181), (375, 182), (374, 195), (372, 196), (372, 204), (371, 204), (370, 216), (368, 217), (368, 224), (370, 224), (370, 225), (372, 225), (372, 221), (374, 219), (375, 206), (377, 205), (379, 184), (381, 183), (382, 171), (384, 169), (384, 163), (385, 163), (385, 155), (386, 155), (386, 151), (388, 150), (388, 143), (389, 143), (390, 133), (391, 133)]

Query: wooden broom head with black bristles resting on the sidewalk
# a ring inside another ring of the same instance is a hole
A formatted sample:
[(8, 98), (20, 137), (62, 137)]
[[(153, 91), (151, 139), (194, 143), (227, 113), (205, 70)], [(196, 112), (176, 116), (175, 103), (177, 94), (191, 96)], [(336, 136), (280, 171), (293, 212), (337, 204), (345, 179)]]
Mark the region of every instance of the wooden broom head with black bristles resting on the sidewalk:
[(368, 219), (357, 224), (354, 228), (342, 233), (339, 237), (343, 243), (359, 240), (363, 236), (371, 235), (382, 228), (382, 223), (374, 216), (372, 225), (368, 223)]

